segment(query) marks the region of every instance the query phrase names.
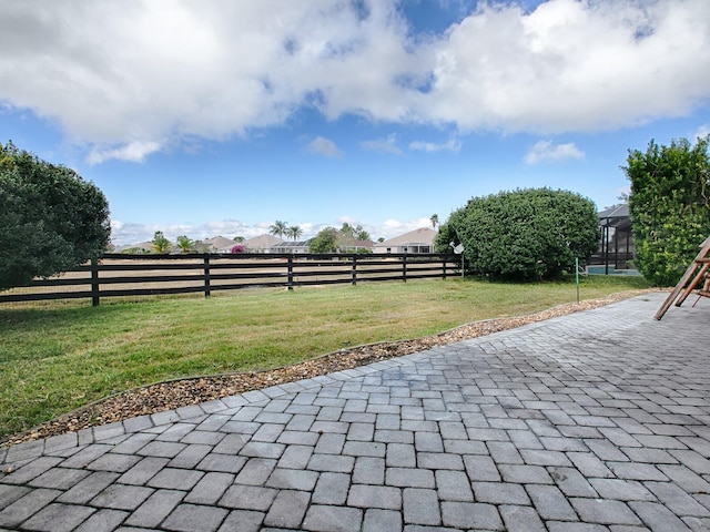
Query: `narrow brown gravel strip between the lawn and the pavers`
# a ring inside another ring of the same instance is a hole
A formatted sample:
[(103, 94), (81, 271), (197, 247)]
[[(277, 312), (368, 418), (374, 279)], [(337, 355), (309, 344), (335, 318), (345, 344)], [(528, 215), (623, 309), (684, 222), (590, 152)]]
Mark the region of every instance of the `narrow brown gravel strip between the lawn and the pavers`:
[(402, 357), (433, 347), (446, 346), (558, 316), (589, 310), (650, 291), (658, 290), (623, 291), (599, 299), (558, 305), (550, 309), (526, 316), (474, 321), (438, 335), (341, 349), (317, 358), (304, 360), (293, 366), (268, 371), (202, 376), (148, 385), (92, 402), (26, 432), (6, 437), (0, 440), (0, 447), (10, 447), (51, 436), (75, 432), (81, 429), (113, 423), (138, 416), (173, 410), (180, 407), (235, 396), (251, 390), (352, 369), (379, 360)]

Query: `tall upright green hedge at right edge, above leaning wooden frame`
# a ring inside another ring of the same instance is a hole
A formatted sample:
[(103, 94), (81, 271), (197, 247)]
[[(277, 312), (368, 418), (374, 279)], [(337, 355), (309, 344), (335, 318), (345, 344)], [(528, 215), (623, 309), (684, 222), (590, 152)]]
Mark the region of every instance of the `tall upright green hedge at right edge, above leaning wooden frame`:
[(636, 266), (659, 286), (672, 286), (710, 236), (710, 135), (694, 145), (651, 141), (646, 152), (629, 150), (622, 170), (631, 182), (629, 209)]

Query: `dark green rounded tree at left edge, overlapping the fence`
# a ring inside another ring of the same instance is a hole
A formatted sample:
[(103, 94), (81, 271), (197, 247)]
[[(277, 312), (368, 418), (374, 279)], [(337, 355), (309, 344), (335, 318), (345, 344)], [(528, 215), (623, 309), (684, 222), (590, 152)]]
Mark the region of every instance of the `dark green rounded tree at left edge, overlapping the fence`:
[(95, 259), (110, 235), (109, 203), (94, 184), (0, 144), (0, 289)]

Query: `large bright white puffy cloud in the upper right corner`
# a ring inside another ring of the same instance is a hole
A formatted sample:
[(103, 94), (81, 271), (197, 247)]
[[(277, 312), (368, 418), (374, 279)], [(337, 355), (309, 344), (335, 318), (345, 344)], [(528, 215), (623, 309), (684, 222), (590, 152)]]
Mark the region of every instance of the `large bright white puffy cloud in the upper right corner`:
[(607, 130), (710, 94), (710, 3), (549, 0), (483, 7), (435, 44), (428, 117), (508, 132)]

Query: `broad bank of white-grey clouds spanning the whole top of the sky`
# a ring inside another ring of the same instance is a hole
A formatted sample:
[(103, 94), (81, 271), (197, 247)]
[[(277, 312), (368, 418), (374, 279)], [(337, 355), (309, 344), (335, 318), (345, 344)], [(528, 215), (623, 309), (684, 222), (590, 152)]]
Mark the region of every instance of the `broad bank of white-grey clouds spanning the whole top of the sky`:
[(427, 35), (397, 0), (0, 6), (0, 102), (60, 124), (94, 163), (248, 135), (304, 106), (551, 134), (679, 116), (710, 98), (707, 0), (479, 2)]

